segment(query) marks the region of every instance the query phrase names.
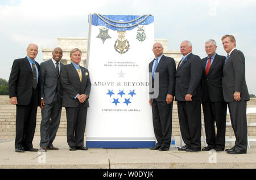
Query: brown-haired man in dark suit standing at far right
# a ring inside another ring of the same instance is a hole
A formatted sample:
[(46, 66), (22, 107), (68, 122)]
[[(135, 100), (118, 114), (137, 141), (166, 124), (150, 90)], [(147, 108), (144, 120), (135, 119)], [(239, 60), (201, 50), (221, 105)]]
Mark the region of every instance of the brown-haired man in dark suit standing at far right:
[(233, 148), (226, 149), (230, 154), (247, 152), (246, 101), (250, 100), (245, 81), (245, 57), (236, 49), (236, 39), (232, 35), (221, 38), (226, 53), (223, 68), (222, 88), (224, 100), (228, 102), (230, 119), (236, 142)]

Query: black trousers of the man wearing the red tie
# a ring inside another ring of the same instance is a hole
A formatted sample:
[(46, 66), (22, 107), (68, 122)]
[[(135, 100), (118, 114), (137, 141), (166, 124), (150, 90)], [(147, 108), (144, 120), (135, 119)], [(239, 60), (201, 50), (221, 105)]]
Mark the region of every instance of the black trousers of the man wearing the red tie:
[[(226, 102), (203, 102), (206, 141), (210, 148), (225, 149)], [(216, 122), (217, 133), (215, 132)]]

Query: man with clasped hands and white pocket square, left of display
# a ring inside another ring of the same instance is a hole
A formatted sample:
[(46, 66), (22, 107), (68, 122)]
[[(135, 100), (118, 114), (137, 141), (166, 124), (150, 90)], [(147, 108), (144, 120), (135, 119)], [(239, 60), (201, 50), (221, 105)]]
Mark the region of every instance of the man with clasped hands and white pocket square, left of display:
[(87, 150), (84, 147), (84, 132), (87, 108), (89, 107), (89, 71), (80, 66), (81, 50), (71, 51), (71, 64), (65, 65), (60, 72), (63, 86), (63, 106), (67, 114), (67, 140), (70, 151)]

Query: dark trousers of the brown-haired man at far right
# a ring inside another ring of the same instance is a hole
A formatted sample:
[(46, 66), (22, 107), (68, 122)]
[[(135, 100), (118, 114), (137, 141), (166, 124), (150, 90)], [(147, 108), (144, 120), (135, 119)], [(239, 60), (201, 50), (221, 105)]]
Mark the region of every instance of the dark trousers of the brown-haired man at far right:
[(231, 124), (236, 136), (235, 147), (247, 149), (246, 101), (228, 102)]

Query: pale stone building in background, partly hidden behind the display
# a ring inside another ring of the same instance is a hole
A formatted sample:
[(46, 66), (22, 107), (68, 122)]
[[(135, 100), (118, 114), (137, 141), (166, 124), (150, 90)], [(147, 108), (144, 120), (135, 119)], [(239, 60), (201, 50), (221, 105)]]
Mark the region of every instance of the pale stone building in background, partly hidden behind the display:
[[(71, 63), (69, 54), (73, 48), (79, 48), (82, 51), (81, 66), (85, 67), (86, 64), (86, 55), (87, 55), (87, 44), (88, 38), (85, 37), (58, 37), (58, 46), (63, 49), (63, 57), (61, 62), (64, 65)], [(164, 52), (163, 54), (174, 58), (176, 65), (181, 59), (181, 54), (179, 50), (168, 50), (167, 49), (167, 39), (156, 38), (155, 42), (160, 42), (163, 45)], [(54, 48), (42, 48), (43, 60), (46, 61), (52, 58), (52, 51)]]

